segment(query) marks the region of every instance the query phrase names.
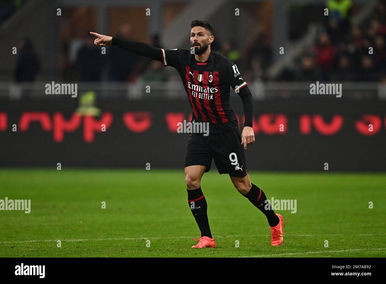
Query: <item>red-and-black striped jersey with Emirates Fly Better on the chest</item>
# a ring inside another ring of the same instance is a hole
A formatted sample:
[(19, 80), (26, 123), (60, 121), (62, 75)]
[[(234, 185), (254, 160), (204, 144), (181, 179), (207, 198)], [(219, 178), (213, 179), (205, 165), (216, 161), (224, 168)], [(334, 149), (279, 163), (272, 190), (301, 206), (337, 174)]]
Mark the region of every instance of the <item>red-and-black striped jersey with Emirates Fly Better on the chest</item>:
[(237, 66), (225, 56), (210, 51), (205, 62), (198, 62), (187, 49), (161, 49), (163, 65), (178, 71), (192, 108), (192, 121), (209, 122), (211, 133), (239, 128), (230, 106), (230, 87), (240, 96), (249, 93)]

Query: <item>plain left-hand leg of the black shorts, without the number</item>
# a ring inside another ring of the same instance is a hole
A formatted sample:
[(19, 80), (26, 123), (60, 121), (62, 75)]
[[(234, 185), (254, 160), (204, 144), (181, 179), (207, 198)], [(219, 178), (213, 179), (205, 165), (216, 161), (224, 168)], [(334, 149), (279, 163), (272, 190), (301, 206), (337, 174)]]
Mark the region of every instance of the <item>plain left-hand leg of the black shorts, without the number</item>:
[(188, 147), (185, 153), (185, 168), (190, 166), (204, 166), (209, 172), (212, 165), (212, 153), (200, 133), (190, 133)]

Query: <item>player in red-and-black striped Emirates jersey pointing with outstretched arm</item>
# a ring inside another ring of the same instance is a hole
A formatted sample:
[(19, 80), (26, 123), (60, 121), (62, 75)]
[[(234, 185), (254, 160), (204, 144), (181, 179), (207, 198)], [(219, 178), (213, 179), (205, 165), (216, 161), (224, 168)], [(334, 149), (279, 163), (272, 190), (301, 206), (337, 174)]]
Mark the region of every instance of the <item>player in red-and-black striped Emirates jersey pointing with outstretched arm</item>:
[[(237, 66), (228, 58), (211, 51), (212, 25), (201, 20), (191, 22), (190, 44), (187, 49), (159, 49), (149, 44), (125, 41), (116, 37), (97, 36), (99, 46), (115, 45), (131, 53), (161, 61), (174, 67), (181, 77), (192, 108), (192, 123), (208, 123), (209, 135), (190, 133), (185, 154), (185, 182), (188, 204), (200, 228), (200, 239), (192, 248), (216, 247), (210, 231), (207, 201), (201, 190), (201, 177), (210, 170), (212, 158), (220, 174), (228, 173), (235, 188), (268, 219), (271, 245), (283, 244), (283, 216), (275, 214), (264, 192), (251, 183), (245, 162), (244, 149), (255, 142), (252, 129), (253, 101), (247, 83)], [(194, 51), (194, 52), (193, 52)], [(240, 135), (237, 118), (230, 106), (232, 87), (242, 99), (245, 123)], [(241, 143), (240, 143), (241, 142)]]

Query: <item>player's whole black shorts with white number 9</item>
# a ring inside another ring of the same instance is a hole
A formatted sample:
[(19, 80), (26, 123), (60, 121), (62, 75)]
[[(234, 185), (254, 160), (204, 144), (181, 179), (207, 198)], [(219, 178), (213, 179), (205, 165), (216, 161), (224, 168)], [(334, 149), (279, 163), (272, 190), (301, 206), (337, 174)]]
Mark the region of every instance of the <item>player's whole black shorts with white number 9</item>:
[(229, 173), (231, 177), (244, 177), (248, 174), (239, 131), (210, 133), (208, 136), (190, 133), (185, 167), (202, 165), (207, 167), (205, 172), (209, 172), (212, 158), (220, 174)]

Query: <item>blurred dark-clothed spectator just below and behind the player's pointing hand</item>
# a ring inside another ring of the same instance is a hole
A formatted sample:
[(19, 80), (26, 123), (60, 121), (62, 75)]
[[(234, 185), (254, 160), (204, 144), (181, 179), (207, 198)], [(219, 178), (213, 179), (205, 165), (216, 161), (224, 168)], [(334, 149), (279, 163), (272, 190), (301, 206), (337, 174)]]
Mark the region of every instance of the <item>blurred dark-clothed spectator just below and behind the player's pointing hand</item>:
[(100, 81), (102, 75), (103, 55), (101, 49), (94, 44), (95, 37), (87, 33), (85, 44), (78, 50), (76, 65), (80, 71), (81, 81)]

